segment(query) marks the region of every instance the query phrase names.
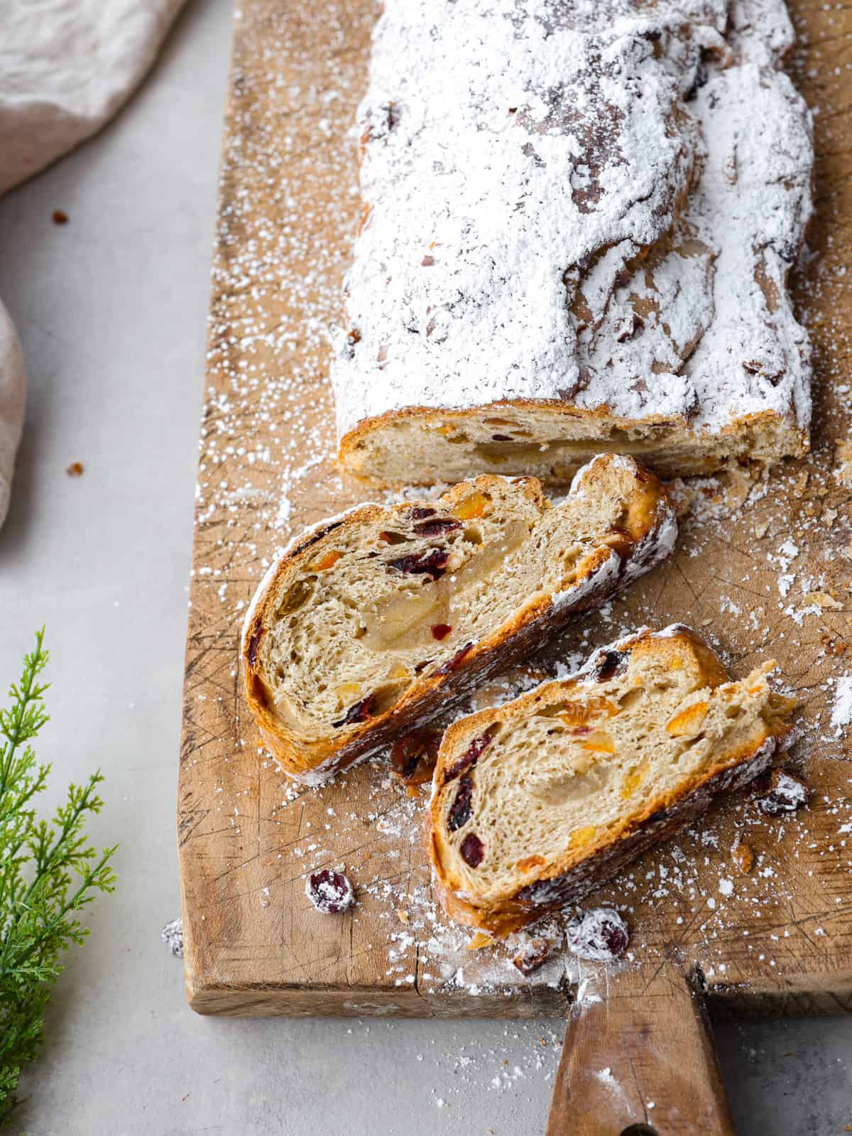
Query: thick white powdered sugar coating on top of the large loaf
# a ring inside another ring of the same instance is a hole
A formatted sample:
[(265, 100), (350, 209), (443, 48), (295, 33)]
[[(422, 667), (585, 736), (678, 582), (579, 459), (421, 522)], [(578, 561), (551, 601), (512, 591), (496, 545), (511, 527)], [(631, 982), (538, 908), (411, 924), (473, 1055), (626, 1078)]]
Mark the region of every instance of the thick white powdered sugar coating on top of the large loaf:
[(340, 434), (500, 400), (807, 427), (785, 275), (812, 148), (778, 70), (791, 40), (782, 0), (390, 0)]

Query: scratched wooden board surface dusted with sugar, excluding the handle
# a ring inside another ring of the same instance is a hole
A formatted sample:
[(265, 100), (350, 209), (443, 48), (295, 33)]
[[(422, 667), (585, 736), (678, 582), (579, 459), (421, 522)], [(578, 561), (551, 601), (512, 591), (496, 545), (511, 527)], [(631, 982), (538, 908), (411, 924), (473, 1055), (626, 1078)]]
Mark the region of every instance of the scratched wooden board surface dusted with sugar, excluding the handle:
[[(378, 757), (300, 788), (242, 700), (240, 625), (272, 558), (364, 499), (335, 467), (328, 328), (361, 204), (351, 124), (376, 9), (244, 0), (235, 23), (201, 424), (178, 840), (187, 993), (206, 1013), (565, 1014), (579, 977), (556, 950), (524, 978), (523, 942), (469, 950), (436, 905), (419, 844), (426, 796)], [(834, 6), (793, 9), (791, 74), (815, 109), (816, 253), (800, 267), (815, 346), (813, 450), (769, 477), (676, 483), (674, 559), (551, 644), (576, 662), (623, 632), (688, 623), (737, 676), (774, 657), (802, 699), (792, 767), (813, 794), (767, 818), (749, 793), (637, 861), (593, 902), (625, 910), (636, 957), (669, 958), (719, 1008), (852, 1004), (852, 419), (850, 34)], [(482, 699), (534, 679), (513, 674)], [(747, 847), (753, 857), (749, 871)], [(358, 903), (317, 913), (304, 877), (344, 866)], [(554, 943), (559, 920), (545, 925)], [(593, 980), (594, 975), (584, 975)]]

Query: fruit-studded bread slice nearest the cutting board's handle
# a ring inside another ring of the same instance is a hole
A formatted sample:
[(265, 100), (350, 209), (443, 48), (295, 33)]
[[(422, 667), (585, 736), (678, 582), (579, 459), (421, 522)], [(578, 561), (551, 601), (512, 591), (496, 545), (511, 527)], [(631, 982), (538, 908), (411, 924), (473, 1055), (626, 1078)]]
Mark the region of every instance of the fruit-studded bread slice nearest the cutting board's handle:
[(795, 704), (772, 690), (774, 666), (730, 682), (675, 625), (454, 722), (427, 825), (449, 914), (498, 936), (517, 930), (757, 777), (784, 746)]

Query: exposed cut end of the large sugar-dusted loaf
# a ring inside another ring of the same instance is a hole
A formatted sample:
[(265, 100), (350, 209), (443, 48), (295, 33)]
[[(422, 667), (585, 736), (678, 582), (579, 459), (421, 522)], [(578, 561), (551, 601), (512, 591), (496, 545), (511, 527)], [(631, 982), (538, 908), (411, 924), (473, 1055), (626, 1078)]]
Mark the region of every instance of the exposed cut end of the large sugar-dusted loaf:
[(367, 419), (344, 434), (340, 462), (377, 487), (431, 485), (479, 474), (570, 482), (596, 453), (630, 454), (662, 477), (710, 474), (738, 460), (771, 465), (808, 452), (808, 432), (792, 417), (749, 415), (722, 429), (692, 429), (684, 418), (630, 420), (605, 408), (494, 404), (475, 410), (412, 408)]

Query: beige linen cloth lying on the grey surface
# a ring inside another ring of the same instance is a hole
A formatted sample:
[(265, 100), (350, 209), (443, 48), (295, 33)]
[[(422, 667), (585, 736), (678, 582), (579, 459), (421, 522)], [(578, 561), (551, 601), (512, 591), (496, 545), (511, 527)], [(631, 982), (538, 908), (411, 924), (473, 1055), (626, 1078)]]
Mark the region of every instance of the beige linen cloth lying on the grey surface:
[[(0, 0), (0, 193), (103, 126), (184, 0)], [(24, 421), (18, 337), (0, 302), (0, 525)]]

